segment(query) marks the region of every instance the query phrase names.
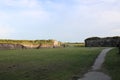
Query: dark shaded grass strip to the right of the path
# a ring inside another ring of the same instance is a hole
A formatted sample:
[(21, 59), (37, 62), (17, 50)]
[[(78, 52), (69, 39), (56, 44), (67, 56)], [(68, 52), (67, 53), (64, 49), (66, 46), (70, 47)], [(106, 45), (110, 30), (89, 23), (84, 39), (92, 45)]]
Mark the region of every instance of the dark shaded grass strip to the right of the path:
[(104, 68), (112, 77), (112, 80), (120, 80), (120, 54), (118, 54), (117, 48), (114, 48), (108, 53)]

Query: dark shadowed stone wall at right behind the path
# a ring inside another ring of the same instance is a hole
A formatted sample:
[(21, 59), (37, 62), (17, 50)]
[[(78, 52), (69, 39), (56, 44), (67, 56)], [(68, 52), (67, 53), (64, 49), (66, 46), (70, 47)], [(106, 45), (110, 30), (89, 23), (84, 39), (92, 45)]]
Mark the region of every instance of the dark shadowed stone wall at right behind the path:
[(120, 43), (120, 37), (91, 37), (85, 40), (86, 47), (117, 47), (117, 44)]

